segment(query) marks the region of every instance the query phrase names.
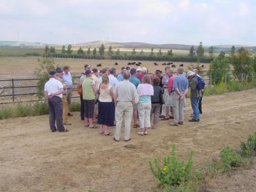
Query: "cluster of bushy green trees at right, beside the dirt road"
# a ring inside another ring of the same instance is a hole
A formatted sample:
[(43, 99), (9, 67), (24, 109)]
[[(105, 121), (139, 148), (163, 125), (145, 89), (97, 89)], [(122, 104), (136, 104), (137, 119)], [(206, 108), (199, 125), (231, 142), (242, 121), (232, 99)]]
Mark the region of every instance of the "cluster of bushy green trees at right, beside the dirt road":
[[(241, 48), (238, 50), (238, 54), (235, 54), (236, 48), (232, 46), (230, 54), (227, 56), (224, 52), (221, 52), (217, 58), (214, 58), (210, 63), (210, 68), (207, 73), (214, 79), (213, 83), (220, 83), (226, 74), (229, 74), (230, 64), (233, 66), (234, 78), (245, 80), (248, 74), (256, 72), (256, 56), (251, 57), (248, 50)], [(242, 79), (242, 75), (243, 79)], [(231, 78), (226, 76), (226, 80)]]

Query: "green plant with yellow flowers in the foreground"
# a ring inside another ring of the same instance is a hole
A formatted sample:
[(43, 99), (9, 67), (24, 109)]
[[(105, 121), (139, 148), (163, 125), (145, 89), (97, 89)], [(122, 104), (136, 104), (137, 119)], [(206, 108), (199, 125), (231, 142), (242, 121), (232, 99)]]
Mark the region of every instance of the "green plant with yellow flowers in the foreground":
[(156, 158), (154, 159), (156, 170), (151, 161), (148, 163), (150, 164), (152, 174), (159, 179), (162, 186), (179, 186), (182, 183), (187, 182), (190, 178), (190, 172), (193, 166), (193, 153), (193, 151), (190, 152), (188, 162), (186, 165), (184, 165), (184, 161), (177, 160), (175, 154), (175, 144), (173, 144), (172, 156), (164, 157), (162, 166), (160, 166)]

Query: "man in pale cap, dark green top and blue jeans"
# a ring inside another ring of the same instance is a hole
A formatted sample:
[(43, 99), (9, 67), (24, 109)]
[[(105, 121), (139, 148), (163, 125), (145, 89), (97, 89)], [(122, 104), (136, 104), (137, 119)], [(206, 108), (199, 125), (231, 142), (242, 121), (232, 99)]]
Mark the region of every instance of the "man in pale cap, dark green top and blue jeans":
[(187, 76), (189, 79), (189, 87), (190, 87), (190, 101), (191, 101), (191, 106), (193, 109), (193, 118), (188, 120), (189, 122), (198, 122), (200, 120), (200, 113), (198, 109), (198, 102), (201, 97), (201, 80), (196, 76), (196, 73), (193, 71), (188, 71)]

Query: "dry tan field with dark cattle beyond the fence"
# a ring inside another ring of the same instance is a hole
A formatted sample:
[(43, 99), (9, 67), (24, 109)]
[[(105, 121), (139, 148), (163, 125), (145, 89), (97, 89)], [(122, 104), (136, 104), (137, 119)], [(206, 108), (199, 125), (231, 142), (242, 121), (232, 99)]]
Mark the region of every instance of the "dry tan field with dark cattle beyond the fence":
[[(42, 58), (42, 57), (41, 57)], [(38, 67), (38, 57), (0, 57), (0, 79), (8, 79), (8, 78), (32, 78), (34, 77), (34, 71)], [(89, 63), (92, 68), (96, 67), (98, 63), (102, 64), (102, 67), (98, 67), (98, 70), (101, 70), (107, 66), (116, 67), (120, 72), (121, 67), (127, 66), (128, 62), (132, 62), (131, 60), (95, 60), (95, 59), (73, 59), (73, 58), (54, 58), (54, 61), (59, 66), (70, 66), (71, 73), (80, 75), (83, 72), (83, 66), (85, 63)], [(118, 66), (115, 66), (115, 62), (118, 62)], [(137, 61), (138, 62), (138, 61)], [(150, 73), (153, 73), (155, 70), (160, 69), (164, 70), (164, 66), (161, 64), (164, 61), (156, 61), (158, 62), (158, 66), (154, 66), (155, 61), (141, 61), (142, 66), (146, 67)], [(167, 61), (169, 62), (169, 61)], [(176, 68), (173, 68), (174, 71), (178, 68), (181, 62), (174, 62)], [(196, 65), (197, 63), (190, 62), (182, 62), (184, 63), (184, 70), (187, 70), (187, 67), (190, 64)], [(200, 65), (204, 64), (204, 70), (208, 70), (209, 63), (200, 63)], [(136, 66), (130, 66), (136, 67)], [(137, 68), (137, 67), (136, 67)]]

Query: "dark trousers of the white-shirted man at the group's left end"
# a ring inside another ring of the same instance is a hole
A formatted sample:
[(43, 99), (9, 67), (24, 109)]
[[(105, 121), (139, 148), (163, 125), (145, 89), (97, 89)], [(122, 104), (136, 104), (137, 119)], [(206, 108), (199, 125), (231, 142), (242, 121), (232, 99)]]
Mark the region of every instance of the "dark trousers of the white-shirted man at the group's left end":
[(63, 117), (62, 117), (62, 101), (58, 96), (48, 98), (49, 104), (49, 123), (50, 129), (56, 131), (55, 119), (57, 123), (57, 130), (63, 131), (65, 127), (63, 126)]

